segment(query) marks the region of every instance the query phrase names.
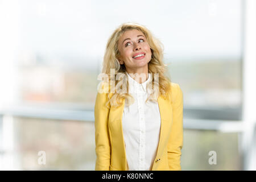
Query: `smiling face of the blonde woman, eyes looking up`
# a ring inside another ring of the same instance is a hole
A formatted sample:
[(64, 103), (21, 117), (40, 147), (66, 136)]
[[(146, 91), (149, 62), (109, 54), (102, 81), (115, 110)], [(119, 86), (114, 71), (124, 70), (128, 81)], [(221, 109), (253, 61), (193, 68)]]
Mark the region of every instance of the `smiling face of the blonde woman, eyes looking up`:
[(139, 30), (125, 31), (118, 40), (119, 63), (125, 64), (127, 72), (147, 70), (151, 49), (144, 34)]

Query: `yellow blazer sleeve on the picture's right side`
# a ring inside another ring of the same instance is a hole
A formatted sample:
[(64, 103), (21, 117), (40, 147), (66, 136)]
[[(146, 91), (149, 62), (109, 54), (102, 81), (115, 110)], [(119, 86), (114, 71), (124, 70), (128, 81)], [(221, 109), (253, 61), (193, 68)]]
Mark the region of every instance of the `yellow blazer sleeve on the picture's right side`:
[[(168, 140), (167, 155), (171, 171), (180, 171), (181, 148), (183, 147), (183, 93), (179, 84), (172, 88), (172, 127)], [(176, 96), (175, 96), (176, 95)]]

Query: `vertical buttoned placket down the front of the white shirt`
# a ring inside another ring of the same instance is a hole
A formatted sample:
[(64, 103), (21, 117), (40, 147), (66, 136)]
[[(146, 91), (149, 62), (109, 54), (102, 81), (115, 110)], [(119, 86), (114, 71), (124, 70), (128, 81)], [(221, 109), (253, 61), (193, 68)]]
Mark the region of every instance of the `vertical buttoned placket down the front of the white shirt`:
[(137, 85), (137, 98), (138, 98), (138, 112), (139, 112), (139, 170), (145, 170), (145, 120), (144, 120), (144, 108), (143, 108), (143, 92), (141, 85)]

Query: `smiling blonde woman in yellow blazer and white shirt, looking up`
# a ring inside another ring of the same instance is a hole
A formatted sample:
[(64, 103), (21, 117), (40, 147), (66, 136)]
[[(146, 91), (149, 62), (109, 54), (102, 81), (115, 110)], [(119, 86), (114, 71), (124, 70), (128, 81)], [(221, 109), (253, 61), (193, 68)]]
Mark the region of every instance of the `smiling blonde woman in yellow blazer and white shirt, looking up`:
[(137, 23), (110, 36), (94, 107), (96, 170), (181, 170), (183, 93), (164, 75), (160, 45)]

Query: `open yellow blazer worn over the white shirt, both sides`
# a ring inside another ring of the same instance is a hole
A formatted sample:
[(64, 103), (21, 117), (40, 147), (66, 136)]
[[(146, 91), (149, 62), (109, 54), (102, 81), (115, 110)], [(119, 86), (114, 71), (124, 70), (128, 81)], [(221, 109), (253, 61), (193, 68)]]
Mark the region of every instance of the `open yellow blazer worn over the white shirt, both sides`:
[[(183, 147), (183, 93), (179, 84), (171, 83), (166, 100), (158, 97), (161, 127), (158, 150), (152, 171), (181, 170), (180, 156)], [(105, 104), (106, 93), (97, 93), (94, 106), (96, 166), (95, 170), (127, 171), (122, 115), (125, 100), (119, 107)]]

